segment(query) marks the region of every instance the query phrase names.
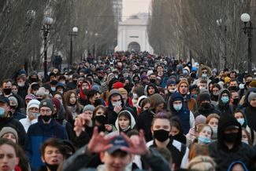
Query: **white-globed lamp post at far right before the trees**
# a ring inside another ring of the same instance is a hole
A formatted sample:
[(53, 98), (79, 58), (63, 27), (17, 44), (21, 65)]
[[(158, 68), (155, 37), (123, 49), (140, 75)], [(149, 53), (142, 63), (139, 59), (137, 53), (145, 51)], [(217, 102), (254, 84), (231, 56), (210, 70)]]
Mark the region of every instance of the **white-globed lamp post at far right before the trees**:
[[(248, 74), (251, 75), (251, 40), (252, 40), (252, 24), (250, 22), (250, 15), (248, 13), (243, 13), (241, 15), (241, 20), (244, 23), (243, 33), (248, 37)], [(248, 25), (249, 23), (249, 25)]]

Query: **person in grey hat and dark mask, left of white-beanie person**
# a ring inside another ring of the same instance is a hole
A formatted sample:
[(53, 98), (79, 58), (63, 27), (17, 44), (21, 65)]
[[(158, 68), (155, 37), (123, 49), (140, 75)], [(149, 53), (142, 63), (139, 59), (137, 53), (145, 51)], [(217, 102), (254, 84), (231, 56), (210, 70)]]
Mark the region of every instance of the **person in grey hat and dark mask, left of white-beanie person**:
[(9, 107), (12, 112), (13, 118), (20, 120), (22, 118), (26, 118), (26, 115), (20, 112), (19, 103), (15, 96), (9, 96)]

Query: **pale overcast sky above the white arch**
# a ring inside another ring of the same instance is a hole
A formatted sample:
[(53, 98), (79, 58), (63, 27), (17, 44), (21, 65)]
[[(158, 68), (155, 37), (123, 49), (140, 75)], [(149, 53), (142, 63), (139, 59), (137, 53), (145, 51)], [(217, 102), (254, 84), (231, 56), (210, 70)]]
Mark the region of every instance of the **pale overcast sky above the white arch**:
[(123, 0), (123, 20), (139, 12), (148, 12), (150, 0)]

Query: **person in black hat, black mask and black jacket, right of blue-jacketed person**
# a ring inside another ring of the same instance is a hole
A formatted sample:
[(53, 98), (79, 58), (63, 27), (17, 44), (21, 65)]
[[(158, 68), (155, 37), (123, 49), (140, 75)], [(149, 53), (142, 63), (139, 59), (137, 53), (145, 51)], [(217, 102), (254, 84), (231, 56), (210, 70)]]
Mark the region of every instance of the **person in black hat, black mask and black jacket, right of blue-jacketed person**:
[(210, 93), (202, 92), (198, 94), (198, 111), (195, 112), (195, 117), (198, 115), (204, 115), (205, 117), (210, 114), (221, 115), (221, 111), (218, 111), (213, 104), (211, 104)]

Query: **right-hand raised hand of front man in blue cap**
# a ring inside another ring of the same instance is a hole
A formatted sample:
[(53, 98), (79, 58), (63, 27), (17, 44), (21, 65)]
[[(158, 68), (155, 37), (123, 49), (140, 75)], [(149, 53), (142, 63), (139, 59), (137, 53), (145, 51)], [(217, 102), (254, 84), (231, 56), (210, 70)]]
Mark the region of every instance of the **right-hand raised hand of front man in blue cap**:
[(144, 138), (143, 130), (139, 130), (139, 140), (131, 140), (125, 133), (121, 133), (121, 136), (128, 142), (129, 147), (121, 147), (122, 151), (127, 151), (134, 155), (146, 155), (147, 154), (147, 145)]

